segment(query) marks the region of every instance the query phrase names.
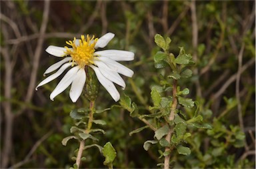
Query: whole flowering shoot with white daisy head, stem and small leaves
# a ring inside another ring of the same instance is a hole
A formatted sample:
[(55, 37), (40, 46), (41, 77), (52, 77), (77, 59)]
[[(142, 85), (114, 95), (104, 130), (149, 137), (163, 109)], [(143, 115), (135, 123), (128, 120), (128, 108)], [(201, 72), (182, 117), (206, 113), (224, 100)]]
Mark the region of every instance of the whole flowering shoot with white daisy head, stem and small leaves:
[[(120, 98), (120, 94), (115, 87), (114, 83), (125, 88), (125, 81), (121, 78), (121, 75), (126, 77), (132, 77), (133, 71), (117, 61), (133, 61), (134, 53), (130, 51), (121, 50), (103, 50), (96, 51), (96, 49), (105, 47), (115, 35), (113, 33), (107, 33), (99, 39), (94, 36), (81, 35), (81, 39), (73, 39), (73, 41), (67, 41), (67, 45), (70, 47), (55, 47), (49, 46), (46, 51), (50, 55), (63, 58), (61, 61), (51, 65), (44, 75), (53, 73), (37, 85), (45, 85), (57, 77), (59, 77), (66, 69), (71, 68), (59, 84), (51, 92), (50, 98), (53, 100), (55, 96), (63, 92), (68, 86), (71, 85), (69, 90), (69, 96), (73, 102), (77, 102), (79, 96), (85, 96), (89, 100), (87, 107), (77, 108), (70, 113), (71, 118), (75, 122), (75, 126), (72, 126), (70, 131), (72, 136), (67, 136), (63, 139), (62, 144), (66, 145), (67, 141), (71, 138), (79, 140), (80, 146), (76, 150), (77, 156), (74, 156), (75, 164), (74, 168), (79, 168), (81, 160), (85, 160), (82, 157), (83, 151), (92, 146), (99, 148), (99, 151), (105, 156), (104, 165), (109, 168), (113, 168), (113, 160), (115, 159), (116, 152), (110, 142), (107, 142), (105, 146), (95, 144), (99, 141), (93, 134), (95, 132), (105, 131), (101, 128), (92, 128), (93, 124), (104, 125), (104, 120), (95, 120), (93, 114), (99, 114), (109, 110), (95, 110), (95, 99), (98, 94), (99, 83), (109, 92), (112, 98), (117, 102)], [(84, 91), (84, 94), (82, 94)], [(85, 140), (91, 140), (93, 144), (85, 145)]]

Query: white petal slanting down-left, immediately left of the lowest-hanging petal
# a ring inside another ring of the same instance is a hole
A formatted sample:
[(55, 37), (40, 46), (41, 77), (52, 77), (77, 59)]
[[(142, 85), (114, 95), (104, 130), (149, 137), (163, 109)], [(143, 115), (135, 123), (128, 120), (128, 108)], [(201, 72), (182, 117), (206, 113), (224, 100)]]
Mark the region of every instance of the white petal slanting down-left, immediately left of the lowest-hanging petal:
[(53, 92), (51, 92), (51, 95), (50, 95), (51, 100), (53, 100), (55, 96), (63, 92), (73, 82), (73, 79), (75, 79), (75, 75), (77, 74), (78, 70), (79, 70), (79, 66), (73, 67), (66, 73), (63, 79), (61, 79), (59, 84), (55, 87)]

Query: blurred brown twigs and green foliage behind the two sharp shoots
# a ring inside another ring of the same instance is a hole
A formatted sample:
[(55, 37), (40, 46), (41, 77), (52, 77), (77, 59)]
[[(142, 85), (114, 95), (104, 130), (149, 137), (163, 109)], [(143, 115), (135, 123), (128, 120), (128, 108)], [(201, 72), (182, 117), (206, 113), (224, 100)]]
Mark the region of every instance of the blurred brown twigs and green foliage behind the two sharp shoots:
[[(152, 105), (151, 86), (167, 72), (154, 67), (156, 33), (171, 37), (193, 55), (193, 77), (181, 86), (191, 90), (212, 130), (191, 129), (189, 156), (173, 154), (175, 168), (255, 168), (255, 1), (1, 1), (1, 168), (69, 168), (79, 143), (61, 144), (69, 136), (73, 104), (68, 90), (52, 102), (49, 94), (59, 80), (37, 92), (43, 72), (59, 61), (49, 45), (82, 34), (112, 32), (107, 49), (133, 51), (133, 69), (124, 92), (141, 114)], [(119, 90), (121, 92), (121, 90)], [(101, 86), (96, 108), (118, 104)], [(189, 112), (188, 112), (189, 113)], [(153, 132), (129, 132), (143, 123), (117, 106), (99, 115), (107, 121), (99, 144), (110, 141), (117, 158), (114, 168), (157, 168), (157, 146), (143, 142)], [(84, 152), (82, 167), (103, 168), (95, 148)]]

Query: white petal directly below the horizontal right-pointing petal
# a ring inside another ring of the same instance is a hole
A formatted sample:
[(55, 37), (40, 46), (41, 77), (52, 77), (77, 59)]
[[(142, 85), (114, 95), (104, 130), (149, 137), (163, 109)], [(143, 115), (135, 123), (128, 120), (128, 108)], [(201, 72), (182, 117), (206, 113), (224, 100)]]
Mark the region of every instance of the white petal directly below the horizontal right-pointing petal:
[(109, 59), (107, 57), (97, 57), (100, 61), (103, 61), (110, 69), (113, 71), (116, 71), (117, 73), (120, 73), (121, 75), (125, 75), (126, 77), (132, 77), (133, 71), (131, 69), (123, 66), (122, 64), (113, 61), (112, 59)]

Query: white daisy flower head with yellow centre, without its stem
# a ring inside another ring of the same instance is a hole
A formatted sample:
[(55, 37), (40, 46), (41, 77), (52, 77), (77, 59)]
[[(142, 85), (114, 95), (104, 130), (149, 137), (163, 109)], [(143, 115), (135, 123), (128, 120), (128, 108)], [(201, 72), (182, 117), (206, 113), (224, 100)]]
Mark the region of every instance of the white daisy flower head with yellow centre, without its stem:
[(125, 81), (123, 81), (119, 74), (125, 75), (126, 77), (133, 76), (131, 69), (121, 65), (117, 61), (133, 61), (134, 53), (120, 50), (95, 51), (95, 49), (105, 47), (114, 36), (113, 33), (107, 33), (99, 39), (94, 39), (94, 36), (90, 38), (89, 35), (87, 35), (85, 38), (84, 35), (81, 35), (81, 39), (74, 38), (73, 41), (66, 42), (67, 45), (70, 45), (72, 48), (47, 47), (45, 51), (50, 55), (65, 58), (51, 65), (51, 67), (45, 71), (44, 75), (59, 69), (53, 73), (53, 75), (50, 75), (39, 83), (35, 90), (37, 90), (39, 86), (53, 81), (53, 79), (59, 77), (67, 68), (71, 67), (53, 92), (51, 92), (50, 98), (53, 100), (55, 96), (71, 85), (69, 96), (73, 102), (76, 102), (83, 91), (83, 86), (86, 81), (85, 67), (88, 66), (95, 71), (99, 83), (106, 88), (107, 92), (109, 92), (112, 98), (117, 102), (120, 98), (120, 94), (113, 83), (125, 88)]

